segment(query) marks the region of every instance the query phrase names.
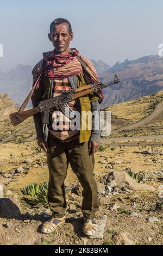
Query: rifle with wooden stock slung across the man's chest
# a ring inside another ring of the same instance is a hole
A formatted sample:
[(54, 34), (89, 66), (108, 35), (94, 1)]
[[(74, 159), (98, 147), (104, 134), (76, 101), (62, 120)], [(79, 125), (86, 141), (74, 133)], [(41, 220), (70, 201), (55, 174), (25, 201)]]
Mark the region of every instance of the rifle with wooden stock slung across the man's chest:
[(40, 101), (40, 103), (37, 107), (34, 107), (34, 108), (26, 110), (26, 111), (18, 111), (18, 112), (9, 114), (11, 123), (12, 123), (12, 125), (16, 126), (34, 114), (41, 113), (43, 111), (47, 111), (47, 110), (53, 109), (53, 108), (58, 109), (62, 105), (65, 105), (68, 102), (76, 100), (79, 97), (83, 97), (83, 96), (86, 96), (91, 93), (96, 93), (98, 90), (103, 89), (108, 86), (112, 86), (112, 84), (117, 84), (120, 81), (121, 80), (118, 79), (117, 75), (115, 74), (114, 81), (112, 81), (110, 83), (97, 82), (97, 83), (93, 83), (93, 84), (87, 84), (86, 86), (77, 88), (74, 91), (70, 90), (68, 92), (62, 93), (59, 96), (52, 97), (51, 99), (42, 100), (42, 101)]

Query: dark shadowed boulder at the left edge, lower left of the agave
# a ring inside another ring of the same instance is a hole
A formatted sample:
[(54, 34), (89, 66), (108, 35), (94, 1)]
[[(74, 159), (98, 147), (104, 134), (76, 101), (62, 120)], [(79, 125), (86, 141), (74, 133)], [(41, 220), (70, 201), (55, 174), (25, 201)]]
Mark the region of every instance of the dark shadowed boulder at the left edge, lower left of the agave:
[(15, 218), (21, 216), (21, 209), (18, 202), (14, 198), (0, 199), (0, 217)]

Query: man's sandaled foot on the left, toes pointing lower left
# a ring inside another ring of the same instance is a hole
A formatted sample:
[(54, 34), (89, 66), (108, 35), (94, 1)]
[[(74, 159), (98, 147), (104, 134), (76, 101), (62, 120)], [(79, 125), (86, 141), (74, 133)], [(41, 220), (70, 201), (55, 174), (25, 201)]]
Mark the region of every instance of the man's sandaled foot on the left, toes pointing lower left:
[(43, 223), (41, 231), (42, 233), (51, 233), (53, 232), (59, 225), (64, 224), (66, 217), (55, 218), (51, 217), (49, 221)]

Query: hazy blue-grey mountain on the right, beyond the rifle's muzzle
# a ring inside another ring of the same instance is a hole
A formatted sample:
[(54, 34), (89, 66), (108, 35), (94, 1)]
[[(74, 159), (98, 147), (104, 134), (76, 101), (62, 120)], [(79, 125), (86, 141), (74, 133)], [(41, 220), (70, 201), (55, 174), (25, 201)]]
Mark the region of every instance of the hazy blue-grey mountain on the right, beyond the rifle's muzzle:
[(159, 92), (163, 89), (162, 70), (163, 58), (145, 56), (117, 62), (112, 68), (99, 73), (99, 79), (105, 82), (113, 80), (114, 74), (121, 79), (119, 84), (104, 89), (101, 108)]

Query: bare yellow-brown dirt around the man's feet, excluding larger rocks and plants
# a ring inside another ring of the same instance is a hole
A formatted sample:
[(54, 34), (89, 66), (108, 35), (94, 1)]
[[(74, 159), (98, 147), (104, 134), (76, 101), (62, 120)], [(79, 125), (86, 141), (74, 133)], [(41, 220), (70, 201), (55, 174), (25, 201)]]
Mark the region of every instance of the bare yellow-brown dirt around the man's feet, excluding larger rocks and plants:
[[(131, 191), (130, 193), (108, 194), (105, 197), (99, 192), (100, 207), (96, 219), (107, 216), (103, 239), (90, 239), (83, 234), (83, 216), (80, 210), (82, 197), (74, 192), (67, 194), (66, 223), (50, 234), (41, 233), (41, 224), (46, 219), (40, 215), (43, 208), (29, 208), (22, 200), (20, 188), (31, 182), (44, 182), (48, 180), (48, 167), (45, 153), (40, 153), (36, 142), (21, 144), (0, 144), (1, 175), (8, 174), (10, 170), (23, 167), (27, 172), (18, 173), (10, 178), (9, 184), (4, 187), (17, 194), (21, 205), (22, 216), (17, 219), (0, 218), (0, 245), (115, 245), (114, 235), (127, 232), (128, 237), (135, 245), (162, 245), (163, 244), (163, 210), (156, 208), (159, 202), (159, 186), (162, 177), (155, 174), (163, 168), (162, 146), (155, 146), (151, 150), (154, 154), (141, 154), (149, 147), (108, 147), (105, 151), (95, 154), (95, 178), (97, 184), (105, 174), (112, 170), (125, 171), (130, 168), (143, 176), (145, 184), (151, 185), (155, 191)], [(25, 160), (32, 160), (27, 163)], [(112, 166), (111, 169), (106, 166)], [(76, 175), (68, 167), (65, 185), (76, 185)], [(104, 199), (104, 200), (103, 200)], [(76, 213), (71, 213), (70, 204), (76, 205)], [(118, 210), (110, 210), (109, 205), (116, 203)], [(133, 213), (134, 212), (134, 213)], [(158, 221), (151, 223), (149, 217), (156, 217)], [(10, 223), (10, 224), (9, 224)], [(6, 227), (9, 224), (9, 227)]]

